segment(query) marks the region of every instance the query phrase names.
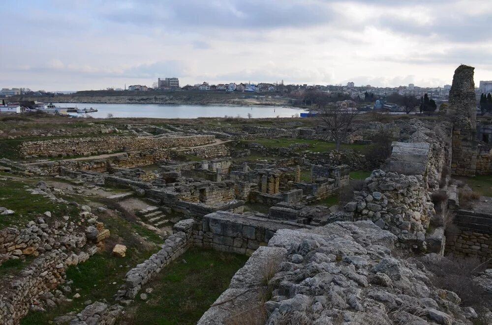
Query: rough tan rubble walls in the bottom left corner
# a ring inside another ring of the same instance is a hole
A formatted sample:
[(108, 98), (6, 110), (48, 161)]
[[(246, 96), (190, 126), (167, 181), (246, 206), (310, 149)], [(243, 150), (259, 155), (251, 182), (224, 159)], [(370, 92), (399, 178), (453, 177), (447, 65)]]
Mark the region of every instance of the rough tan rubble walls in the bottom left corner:
[(3, 259), (39, 254), (18, 275), (5, 279), (0, 288), (0, 324), (18, 324), (34, 301), (65, 281), (69, 266), (86, 261), (109, 236), (109, 230), (96, 222), (96, 216), (89, 212), (81, 216), (95, 226), (84, 231), (72, 221), (48, 224), (39, 218), (20, 231), (7, 228), (0, 232)]

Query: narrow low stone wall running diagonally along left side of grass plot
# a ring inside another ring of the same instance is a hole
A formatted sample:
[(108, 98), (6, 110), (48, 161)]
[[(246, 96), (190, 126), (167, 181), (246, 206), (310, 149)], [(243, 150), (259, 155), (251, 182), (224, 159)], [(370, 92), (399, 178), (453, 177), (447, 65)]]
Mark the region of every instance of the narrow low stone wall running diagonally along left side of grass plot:
[(125, 275), (125, 283), (118, 291), (117, 299), (135, 298), (144, 284), (188, 249), (192, 236), (193, 219), (177, 222), (162, 248), (148, 260), (137, 265)]

